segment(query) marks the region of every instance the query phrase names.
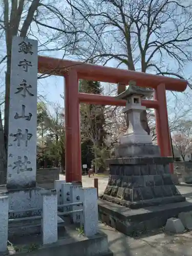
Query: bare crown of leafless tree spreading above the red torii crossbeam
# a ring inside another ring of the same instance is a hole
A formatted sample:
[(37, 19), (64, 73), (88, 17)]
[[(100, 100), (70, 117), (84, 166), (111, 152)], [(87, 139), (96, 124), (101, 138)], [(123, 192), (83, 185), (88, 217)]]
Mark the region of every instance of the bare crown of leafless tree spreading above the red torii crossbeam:
[(104, 65), (115, 59), (129, 70), (183, 77), (183, 68), (192, 58), (189, 1), (72, 2), (74, 10), (102, 28), (103, 48), (97, 49), (95, 59)]

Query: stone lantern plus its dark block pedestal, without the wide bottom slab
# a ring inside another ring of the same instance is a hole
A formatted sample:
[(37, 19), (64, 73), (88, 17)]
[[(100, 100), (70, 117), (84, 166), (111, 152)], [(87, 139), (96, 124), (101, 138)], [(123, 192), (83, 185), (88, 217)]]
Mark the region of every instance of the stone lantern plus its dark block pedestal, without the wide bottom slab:
[(141, 124), (146, 110), (141, 99), (151, 93), (135, 86), (117, 96), (126, 99), (127, 132), (116, 146), (116, 158), (108, 159), (111, 176), (102, 198), (133, 209), (185, 201), (169, 172), (173, 158), (160, 156), (159, 146)]

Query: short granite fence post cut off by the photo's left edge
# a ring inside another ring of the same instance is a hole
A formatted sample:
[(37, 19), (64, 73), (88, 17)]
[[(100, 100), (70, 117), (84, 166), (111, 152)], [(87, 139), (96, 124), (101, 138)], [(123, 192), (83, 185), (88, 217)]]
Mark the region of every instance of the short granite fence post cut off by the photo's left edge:
[(9, 198), (0, 197), (0, 254), (7, 252)]

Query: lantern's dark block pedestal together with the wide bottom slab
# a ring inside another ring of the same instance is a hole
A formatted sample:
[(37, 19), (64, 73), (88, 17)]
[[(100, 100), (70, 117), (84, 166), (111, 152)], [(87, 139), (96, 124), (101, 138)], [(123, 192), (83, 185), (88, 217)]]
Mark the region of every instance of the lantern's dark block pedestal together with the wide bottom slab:
[(102, 222), (130, 234), (165, 225), (192, 209), (169, 172), (169, 157), (109, 159), (110, 178), (98, 208)]

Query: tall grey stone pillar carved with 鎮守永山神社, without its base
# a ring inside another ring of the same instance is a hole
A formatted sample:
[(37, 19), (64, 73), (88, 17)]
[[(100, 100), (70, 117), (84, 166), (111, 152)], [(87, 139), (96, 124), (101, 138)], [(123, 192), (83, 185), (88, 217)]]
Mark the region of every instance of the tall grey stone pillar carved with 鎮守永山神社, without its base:
[(13, 37), (9, 104), (7, 188), (36, 184), (37, 41)]

